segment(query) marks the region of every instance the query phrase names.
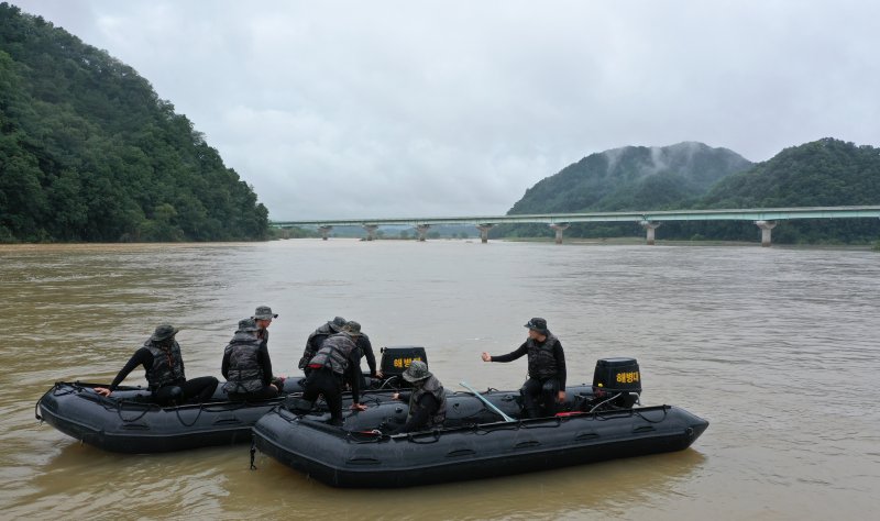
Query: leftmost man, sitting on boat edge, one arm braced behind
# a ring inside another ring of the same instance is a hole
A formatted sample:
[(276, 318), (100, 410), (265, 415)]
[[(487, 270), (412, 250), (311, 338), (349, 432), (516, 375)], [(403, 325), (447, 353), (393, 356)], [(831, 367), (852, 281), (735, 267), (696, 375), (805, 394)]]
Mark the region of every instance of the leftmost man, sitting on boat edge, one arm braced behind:
[(217, 378), (202, 376), (191, 380), (186, 379), (180, 344), (174, 340), (178, 331), (180, 330), (168, 324), (156, 328), (143, 347), (135, 351), (125, 367), (119, 372), (110, 388), (96, 387), (95, 391), (101, 396), (110, 396), (129, 373), (143, 365), (146, 381), (157, 403), (165, 406), (209, 400), (217, 389)]

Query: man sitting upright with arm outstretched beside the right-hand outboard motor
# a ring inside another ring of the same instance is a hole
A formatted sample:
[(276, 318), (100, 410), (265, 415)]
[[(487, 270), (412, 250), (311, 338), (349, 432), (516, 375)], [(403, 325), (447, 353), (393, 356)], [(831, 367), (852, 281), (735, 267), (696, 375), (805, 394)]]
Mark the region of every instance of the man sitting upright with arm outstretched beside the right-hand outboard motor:
[(522, 412), (526, 418), (538, 418), (557, 412), (557, 401), (565, 399), (565, 354), (562, 343), (547, 329), (547, 321), (534, 318), (528, 321), (529, 337), (518, 350), (501, 356), (483, 353), (483, 362), (513, 362), (528, 355), (529, 379), (522, 384)]

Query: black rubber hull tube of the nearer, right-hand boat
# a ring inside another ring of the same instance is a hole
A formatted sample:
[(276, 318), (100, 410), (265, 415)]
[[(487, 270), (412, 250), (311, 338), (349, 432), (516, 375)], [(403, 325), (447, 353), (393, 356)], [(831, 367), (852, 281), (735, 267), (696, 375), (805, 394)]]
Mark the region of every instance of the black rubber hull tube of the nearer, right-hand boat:
[(388, 436), (276, 408), (254, 425), (254, 443), (334, 487), (394, 488), (681, 451), (707, 426), (684, 409), (660, 406)]

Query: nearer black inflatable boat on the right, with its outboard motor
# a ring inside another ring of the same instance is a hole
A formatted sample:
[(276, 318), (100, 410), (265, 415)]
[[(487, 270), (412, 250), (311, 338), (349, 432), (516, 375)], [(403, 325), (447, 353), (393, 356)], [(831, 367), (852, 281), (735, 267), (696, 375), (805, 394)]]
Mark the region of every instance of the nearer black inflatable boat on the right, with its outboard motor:
[[(626, 373), (638, 384), (637, 368)], [(678, 407), (636, 406), (639, 393), (640, 385), (636, 392), (594, 378), (569, 386), (562, 412), (538, 419), (520, 418), (518, 391), (451, 393), (442, 428), (396, 435), (386, 432), (405, 421), (402, 402), (371, 403), (338, 428), (288, 400), (256, 422), (254, 445), (334, 487), (389, 488), (681, 451), (708, 426)]]

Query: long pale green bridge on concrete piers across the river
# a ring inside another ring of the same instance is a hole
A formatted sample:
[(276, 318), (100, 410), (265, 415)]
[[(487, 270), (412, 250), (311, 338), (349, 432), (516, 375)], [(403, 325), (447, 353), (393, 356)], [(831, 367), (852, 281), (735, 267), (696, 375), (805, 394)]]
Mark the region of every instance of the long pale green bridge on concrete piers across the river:
[(636, 222), (646, 230), (649, 245), (654, 243), (654, 231), (666, 221), (751, 221), (761, 231), (761, 246), (770, 246), (771, 230), (779, 221), (790, 219), (880, 219), (880, 206), (868, 207), (803, 207), (759, 208), (721, 210), (672, 210), (634, 212), (585, 212), (585, 213), (534, 213), (518, 215), (482, 215), (452, 218), (391, 218), (391, 219), (339, 219), (308, 221), (274, 221), (273, 228), (316, 226), (327, 241), (333, 226), (362, 226), (366, 240), (375, 239), (381, 225), (407, 225), (416, 229), (419, 241), (425, 241), (431, 226), (447, 224), (472, 224), (480, 230), (483, 243), (488, 242), (488, 231), (497, 224), (544, 223), (556, 231), (557, 244), (562, 244), (562, 234), (576, 222)]

